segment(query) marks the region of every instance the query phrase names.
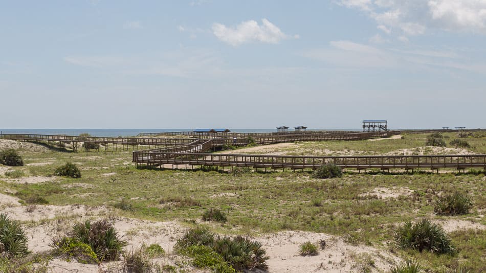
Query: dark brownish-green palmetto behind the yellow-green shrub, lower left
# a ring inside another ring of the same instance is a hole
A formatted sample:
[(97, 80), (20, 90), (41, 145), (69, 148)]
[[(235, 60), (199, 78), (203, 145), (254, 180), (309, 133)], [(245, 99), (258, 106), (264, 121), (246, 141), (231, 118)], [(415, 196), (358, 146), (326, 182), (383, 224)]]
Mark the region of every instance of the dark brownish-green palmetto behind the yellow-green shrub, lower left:
[(68, 235), (89, 244), (100, 261), (118, 260), (122, 248), (127, 245), (126, 241), (118, 236), (113, 225), (105, 219), (94, 223), (90, 220), (76, 223)]

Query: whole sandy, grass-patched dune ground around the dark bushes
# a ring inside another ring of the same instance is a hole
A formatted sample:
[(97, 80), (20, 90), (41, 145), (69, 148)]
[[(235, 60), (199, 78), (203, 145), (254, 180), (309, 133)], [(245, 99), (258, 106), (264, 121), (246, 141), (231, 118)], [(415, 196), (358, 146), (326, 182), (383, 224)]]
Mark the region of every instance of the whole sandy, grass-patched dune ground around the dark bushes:
[[(482, 135), (461, 138), (469, 148), (428, 147), (426, 138), (425, 134), (406, 134), (403, 139), (293, 143), (232, 152), (486, 153)], [(452, 133), (444, 135), (447, 144), (457, 138)], [(9, 142), (0, 149), (13, 145)], [(39, 272), (121, 271), (137, 266), (154, 272), (192, 272), (230, 264), (215, 253), (214, 249), (220, 248), (213, 246), (174, 251), (185, 230), (197, 226), (206, 226), (221, 237), (231, 236), (228, 243), (237, 235), (261, 243), (269, 257), (270, 272), (387, 272), (401, 263), (406, 265), (406, 260), (416, 261), (429, 272), (459, 267), (470, 272), (486, 270), (486, 179), (482, 170), (460, 175), (428, 170), (413, 174), (344, 170), (342, 177), (319, 179), (312, 170), (229, 173), (136, 169), (130, 152), (73, 153), (34, 144), (14, 148), (25, 164), (0, 166), (0, 208), (19, 221), (33, 253), (21, 259), (0, 258), (0, 271), (22, 265)], [(81, 177), (54, 176), (56, 168), (67, 162), (79, 167)], [(441, 198), (454, 194), (467, 197), (472, 204), (469, 211), (452, 216), (437, 213), (434, 206)], [(216, 211), (226, 221), (213, 220)], [(444, 227), (453, 252), (436, 254), (399, 247), (396, 231), (404, 220), (416, 222), (425, 217)], [(73, 223), (105, 218), (128, 244), (119, 261), (82, 264), (51, 253), (52, 239), (68, 235)], [(149, 254), (146, 249), (151, 244), (160, 245), (163, 252)], [(311, 245), (319, 246), (317, 253), (301, 256), (304, 244), (305, 251)]]

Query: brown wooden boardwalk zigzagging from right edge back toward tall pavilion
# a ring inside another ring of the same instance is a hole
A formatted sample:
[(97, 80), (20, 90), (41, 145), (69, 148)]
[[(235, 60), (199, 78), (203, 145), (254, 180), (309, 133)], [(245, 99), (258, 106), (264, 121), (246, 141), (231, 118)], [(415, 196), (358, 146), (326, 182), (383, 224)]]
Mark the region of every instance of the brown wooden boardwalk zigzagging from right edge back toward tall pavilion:
[[(384, 133), (384, 132), (382, 132)], [(393, 134), (393, 132), (388, 132)], [(367, 135), (366, 135), (367, 134)], [(373, 136), (370, 133), (327, 135), (322, 134), (294, 134), (293, 137), (279, 138), (278, 135), (255, 138), (261, 143), (278, 143), (293, 141), (315, 140), (358, 140)], [(376, 135), (374, 135), (376, 136)], [(198, 140), (188, 145), (169, 148), (134, 151), (132, 161), (137, 166), (163, 166), (171, 165), (200, 165), (200, 166), (230, 166), (253, 168), (290, 168), (290, 169), (316, 169), (327, 163), (334, 163), (344, 169), (417, 169), (428, 168), (482, 168), (486, 169), (486, 155), (393, 155), (393, 156), (290, 156), (290, 155), (261, 155), (261, 154), (214, 154), (206, 151), (221, 147), (229, 139)]]

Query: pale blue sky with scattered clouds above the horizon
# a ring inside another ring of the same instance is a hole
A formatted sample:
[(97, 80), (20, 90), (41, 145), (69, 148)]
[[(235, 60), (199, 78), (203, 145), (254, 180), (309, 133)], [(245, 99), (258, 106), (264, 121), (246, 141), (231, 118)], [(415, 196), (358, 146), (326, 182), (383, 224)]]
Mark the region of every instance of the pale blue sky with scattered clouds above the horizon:
[(486, 0), (1, 1), (0, 128), (486, 128)]

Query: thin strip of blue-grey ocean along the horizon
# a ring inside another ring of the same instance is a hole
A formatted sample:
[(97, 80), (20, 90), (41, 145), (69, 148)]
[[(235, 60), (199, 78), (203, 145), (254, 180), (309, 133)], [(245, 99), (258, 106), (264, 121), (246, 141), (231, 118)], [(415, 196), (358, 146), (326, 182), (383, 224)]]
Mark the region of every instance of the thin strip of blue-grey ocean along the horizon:
[[(89, 133), (94, 137), (133, 137), (139, 133), (150, 132), (181, 132), (193, 131), (194, 128), (179, 128), (179, 129), (0, 129), (2, 134), (18, 133), (18, 134), (63, 134), (63, 135), (79, 135), (81, 133)], [(251, 128), (233, 128), (230, 130), (237, 133), (267, 133), (276, 132), (275, 128), (268, 129), (251, 129)], [(307, 129), (307, 130), (343, 130), (343, 131), (360, 131), (361, 129)]]

